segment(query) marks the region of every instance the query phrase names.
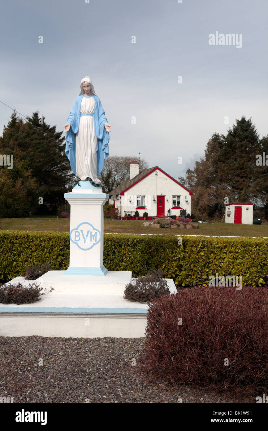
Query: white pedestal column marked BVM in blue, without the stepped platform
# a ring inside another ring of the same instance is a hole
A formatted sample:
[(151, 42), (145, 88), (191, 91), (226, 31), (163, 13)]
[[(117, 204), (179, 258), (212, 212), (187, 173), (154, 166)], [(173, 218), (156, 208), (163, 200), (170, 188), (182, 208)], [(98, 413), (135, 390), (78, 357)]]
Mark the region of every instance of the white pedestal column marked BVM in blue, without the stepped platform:
[(70, 266), (66, 275), (100, 275), (103, 265), (103, 205), (109, 195), (89, 181), (80, 181), (71, 193), (65, 193), (71, 206)]

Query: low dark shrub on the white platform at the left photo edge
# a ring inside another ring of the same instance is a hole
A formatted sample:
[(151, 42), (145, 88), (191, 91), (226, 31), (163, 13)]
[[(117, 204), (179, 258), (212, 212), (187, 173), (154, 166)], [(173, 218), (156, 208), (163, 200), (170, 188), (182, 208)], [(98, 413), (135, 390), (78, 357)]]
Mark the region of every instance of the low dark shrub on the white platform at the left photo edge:
[(42, 287), (40, 284), (30, 283), (28, 287), (25, 287), (22, 283), (15, 284), (4, 284), (0, 287), (0, 303), (2, 304), (30, 304), (32, 302), (39, 301), (41, 295), (47, 294), (54, 290), (50, 287), (50, 290), (40, 293)]

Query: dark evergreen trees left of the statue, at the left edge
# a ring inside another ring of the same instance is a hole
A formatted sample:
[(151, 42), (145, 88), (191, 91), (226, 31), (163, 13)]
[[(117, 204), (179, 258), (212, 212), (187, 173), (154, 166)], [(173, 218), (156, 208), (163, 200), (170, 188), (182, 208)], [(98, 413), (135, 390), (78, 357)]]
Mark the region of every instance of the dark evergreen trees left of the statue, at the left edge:
[(12, 113), (0, 137), (0, 153), (13, 154), (13, 169), (0, 168), (2, 216), (55, 213), (64, 203), (63, 195), (72, 175), (61, 135), (55, 126), (46, 125), (38, 112), (25, 122)]

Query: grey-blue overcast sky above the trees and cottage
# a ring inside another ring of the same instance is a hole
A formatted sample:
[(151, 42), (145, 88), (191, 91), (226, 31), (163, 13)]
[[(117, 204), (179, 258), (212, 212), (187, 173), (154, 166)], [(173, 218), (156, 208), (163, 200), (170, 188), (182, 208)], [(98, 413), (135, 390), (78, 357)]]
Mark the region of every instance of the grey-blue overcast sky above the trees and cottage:
[[(242, 115), (268, 134), (267, 16), (267, 0), (6, 0), (0, 100), (62, 131), (89, 75), (110, 155), (140, 152), (178, 178)], [(209, 44), (216, 32), (237, 42)], [(3, 103), (1, 135), (12, 113)]]

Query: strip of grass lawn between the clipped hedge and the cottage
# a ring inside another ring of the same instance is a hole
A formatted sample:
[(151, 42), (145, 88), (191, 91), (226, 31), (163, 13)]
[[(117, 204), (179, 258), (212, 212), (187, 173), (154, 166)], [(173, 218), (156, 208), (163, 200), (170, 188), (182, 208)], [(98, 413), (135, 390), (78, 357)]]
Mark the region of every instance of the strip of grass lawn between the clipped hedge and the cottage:
[[(242, 237), (268, 237), (268, 225), (234, 225), (231, 223), (214, 222), (199, 223), (198, 229), (154, 229), (142, 226), (142, 220), (104, 219), (105, 233), (122, 234), (168, 234), (168, 235), (219, 235)], [(0, 219), (0, 229), (19, 231), (54, 231), (69, 232), (70, 219), (55, 216), (28, 217), (23, 219)]]

